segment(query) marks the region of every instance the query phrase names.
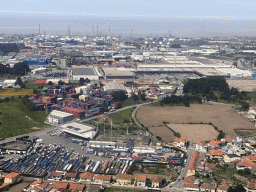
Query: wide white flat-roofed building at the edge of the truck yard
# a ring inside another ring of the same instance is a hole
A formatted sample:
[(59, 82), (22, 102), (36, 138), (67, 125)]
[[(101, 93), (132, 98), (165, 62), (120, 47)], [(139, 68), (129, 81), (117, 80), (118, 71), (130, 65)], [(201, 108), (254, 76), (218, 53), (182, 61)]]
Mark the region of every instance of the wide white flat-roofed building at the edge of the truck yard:
[(93, 139), (98, 133), (96, 128), (92, 125), (85, 125), (74, 122), (60, 126), (60, 131), (84, 140)]

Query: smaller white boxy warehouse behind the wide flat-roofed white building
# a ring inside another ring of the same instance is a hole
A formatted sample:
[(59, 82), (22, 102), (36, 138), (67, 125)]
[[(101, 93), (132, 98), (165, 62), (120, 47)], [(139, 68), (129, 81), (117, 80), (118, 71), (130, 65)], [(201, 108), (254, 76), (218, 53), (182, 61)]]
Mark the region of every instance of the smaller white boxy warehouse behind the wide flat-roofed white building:
[(73, 114), (53, 110), (47, 117), (46, 122), (50, 124), (62, 124), (68, 121), (72, 121), (73, 119), (74, 119)]

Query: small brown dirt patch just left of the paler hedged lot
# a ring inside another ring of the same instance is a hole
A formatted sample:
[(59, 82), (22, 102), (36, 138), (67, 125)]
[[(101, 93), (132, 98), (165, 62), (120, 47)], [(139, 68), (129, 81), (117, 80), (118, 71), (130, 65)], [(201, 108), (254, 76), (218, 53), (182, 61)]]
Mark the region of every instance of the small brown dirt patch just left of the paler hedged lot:
[(163, 141), (171, 142), (174, 139), (173, 132), (170, 131), (167, 127), (164, 125), (157, 126), (157, 127), (149, 127), (149, 130), (151, 133), (153, 133), (156, 136), (162, 137)]

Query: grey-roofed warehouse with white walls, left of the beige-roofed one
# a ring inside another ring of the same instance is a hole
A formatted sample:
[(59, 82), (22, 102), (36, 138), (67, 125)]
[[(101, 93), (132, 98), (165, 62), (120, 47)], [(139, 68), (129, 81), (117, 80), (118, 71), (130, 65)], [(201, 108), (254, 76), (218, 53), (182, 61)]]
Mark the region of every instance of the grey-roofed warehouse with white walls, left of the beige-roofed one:
[(101, 74), (95, 67), (73, 67), (71, 79), (79, 81), (80, 78), (88, 78), (90, 80), (99, 80)]

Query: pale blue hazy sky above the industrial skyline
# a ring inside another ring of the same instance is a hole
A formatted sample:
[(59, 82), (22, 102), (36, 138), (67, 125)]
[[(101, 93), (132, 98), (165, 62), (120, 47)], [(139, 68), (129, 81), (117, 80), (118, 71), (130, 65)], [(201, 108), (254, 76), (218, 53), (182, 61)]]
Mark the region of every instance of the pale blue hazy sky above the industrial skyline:
[(255, 11), (255, 0), (0, 0), (0, 33), (252, 36)]

